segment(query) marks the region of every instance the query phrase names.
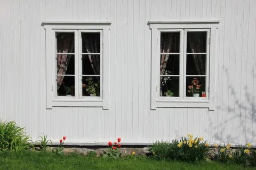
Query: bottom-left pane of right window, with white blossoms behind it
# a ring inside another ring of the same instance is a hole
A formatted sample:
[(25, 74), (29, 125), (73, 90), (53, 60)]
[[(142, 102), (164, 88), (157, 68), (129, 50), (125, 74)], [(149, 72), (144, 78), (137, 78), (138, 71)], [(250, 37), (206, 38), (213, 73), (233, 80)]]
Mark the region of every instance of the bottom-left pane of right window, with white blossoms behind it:
[(179, 77), (160, 77), (160, 96), (179, 97)]

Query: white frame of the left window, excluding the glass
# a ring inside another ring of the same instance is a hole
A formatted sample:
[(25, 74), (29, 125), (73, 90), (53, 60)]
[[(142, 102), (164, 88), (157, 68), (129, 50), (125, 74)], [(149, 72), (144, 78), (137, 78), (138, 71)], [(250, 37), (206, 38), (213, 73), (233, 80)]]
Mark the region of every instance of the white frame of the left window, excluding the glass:
[[(109, 109), (109, 47), (111, 22), (43, 22), (46, 32), (46, 108), (102, 107)], [(75, 35), (75, 96), (57, 96), (55, 32)], [(100, 97), (82, 96), (83, 32), (100, 32)], [(79, 50), (79, 51), (78, 51)]]

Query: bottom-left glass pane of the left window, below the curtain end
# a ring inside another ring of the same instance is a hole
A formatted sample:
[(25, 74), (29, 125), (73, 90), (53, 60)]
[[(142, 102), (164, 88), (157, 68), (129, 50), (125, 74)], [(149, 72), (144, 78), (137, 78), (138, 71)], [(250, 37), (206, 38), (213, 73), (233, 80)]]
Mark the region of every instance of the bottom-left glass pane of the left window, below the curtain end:
[(75, 96), (75, 76), (56, 76), (57, 95)]

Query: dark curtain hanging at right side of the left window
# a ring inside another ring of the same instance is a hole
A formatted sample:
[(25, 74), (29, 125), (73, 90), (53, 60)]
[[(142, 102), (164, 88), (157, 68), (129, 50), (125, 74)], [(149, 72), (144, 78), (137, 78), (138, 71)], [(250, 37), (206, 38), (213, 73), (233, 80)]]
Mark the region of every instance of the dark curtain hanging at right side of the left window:
[[(83, 37), (86, 53), (100, 52), (100, 38), (98, 33), (85, 33)], [(88, 55), (93, 72), (95, 75), (100, 74), (100, 57), (99, 55)], [(98, 79), (98, 77), (97, 77)]]

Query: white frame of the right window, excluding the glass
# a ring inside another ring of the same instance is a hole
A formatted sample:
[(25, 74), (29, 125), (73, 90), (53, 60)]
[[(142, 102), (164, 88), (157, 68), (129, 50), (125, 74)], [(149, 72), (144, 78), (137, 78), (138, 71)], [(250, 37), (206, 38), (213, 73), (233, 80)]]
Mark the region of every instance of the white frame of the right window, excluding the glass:
[[(151, 29), (151, 109), (157, 107), (199, 107), (215, 109), (215, 61), (217, 32), (220, 21), (149, 21)], [(161, 32), (180, 32), (179, 97), (159, 96)], [(206, 98), (186, 97), (187, 32), (207, 31)], [(182, 89), (181, 89), (182, 88)]]

